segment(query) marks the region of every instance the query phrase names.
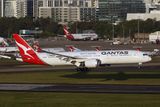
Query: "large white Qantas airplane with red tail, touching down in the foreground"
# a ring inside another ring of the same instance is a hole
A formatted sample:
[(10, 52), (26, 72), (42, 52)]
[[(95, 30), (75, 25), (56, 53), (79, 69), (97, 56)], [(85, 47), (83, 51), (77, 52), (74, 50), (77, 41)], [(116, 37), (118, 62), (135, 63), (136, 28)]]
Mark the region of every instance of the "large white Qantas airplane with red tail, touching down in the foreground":
[(80, 52), (36, 52), (18, 34), (13, 34), (23, 62), (37, 65), (74, 65), (80, 71), (108, 64), (129, 64), (151, 61), (151, 57), (135, 50), (107, 50)]

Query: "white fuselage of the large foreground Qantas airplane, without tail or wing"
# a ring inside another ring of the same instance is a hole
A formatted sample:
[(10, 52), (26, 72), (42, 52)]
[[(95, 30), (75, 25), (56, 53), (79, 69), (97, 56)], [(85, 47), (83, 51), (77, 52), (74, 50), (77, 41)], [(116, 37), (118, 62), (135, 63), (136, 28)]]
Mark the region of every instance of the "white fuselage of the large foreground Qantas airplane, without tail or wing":
[[(148, 55), (135, 50), (109, 50), (109, 51), (80, 51), (80, 52), (60, 52), (58, 54), (75, 57), (77, 59), (98, 59), (102, 65), (105, 64), (129, 64), (144, 63), (151, 61)], [(38, 57), (48, 65), (73, 65), (70, 62), (61, 60), (56, 55), (48, 53), (38, 53)]]

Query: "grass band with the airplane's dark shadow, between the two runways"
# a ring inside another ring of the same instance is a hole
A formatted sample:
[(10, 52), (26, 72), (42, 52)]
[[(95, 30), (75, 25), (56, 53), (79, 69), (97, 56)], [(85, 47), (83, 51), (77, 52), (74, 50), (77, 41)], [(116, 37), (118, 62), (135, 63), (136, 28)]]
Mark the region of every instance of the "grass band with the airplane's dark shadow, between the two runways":
[(159, 72), (21, 72), (0, 73), (0, 83), (160, 85)]

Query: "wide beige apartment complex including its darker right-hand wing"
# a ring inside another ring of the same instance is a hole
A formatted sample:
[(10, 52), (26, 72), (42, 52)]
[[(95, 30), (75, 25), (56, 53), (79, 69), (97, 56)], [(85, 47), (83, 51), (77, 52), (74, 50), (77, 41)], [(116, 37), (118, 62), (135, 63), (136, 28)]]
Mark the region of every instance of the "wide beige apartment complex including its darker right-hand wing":
[(40, 7), (39, 17), (53, 18), (58, 22), (96, 21), (96, 8), (79, 7)]

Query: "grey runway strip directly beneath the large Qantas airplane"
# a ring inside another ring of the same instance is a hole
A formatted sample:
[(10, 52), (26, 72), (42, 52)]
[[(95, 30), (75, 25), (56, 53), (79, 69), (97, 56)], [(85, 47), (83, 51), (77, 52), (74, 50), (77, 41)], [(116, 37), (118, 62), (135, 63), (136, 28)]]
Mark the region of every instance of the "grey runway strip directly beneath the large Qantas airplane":
[[(138, 68), (137, 64), (129, 65), (111, 65), (105, 67), (98, 67), (91, 69), (94, 72), (128, 72), (128, 71), (159, 71), (160, 63), (145, 63), (141, 68)], [(75, 66), (39, 66), (39, 65), (8, 65), (0, 66), (0, 72), (34, 72), (34, 71), (75, 71)]]

